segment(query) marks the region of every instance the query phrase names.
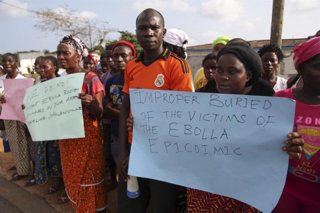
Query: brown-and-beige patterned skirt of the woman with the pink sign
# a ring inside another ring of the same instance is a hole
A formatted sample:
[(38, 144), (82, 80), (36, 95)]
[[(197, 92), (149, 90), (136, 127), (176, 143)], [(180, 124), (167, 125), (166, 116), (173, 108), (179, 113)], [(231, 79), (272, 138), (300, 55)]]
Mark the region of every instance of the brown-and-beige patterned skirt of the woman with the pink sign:
[(4, 120), (4, 127), (16, 172), (19, 175), (30, 174), (30, 160), (34, 159), (34, 143), (26, 125), (18, 120)]

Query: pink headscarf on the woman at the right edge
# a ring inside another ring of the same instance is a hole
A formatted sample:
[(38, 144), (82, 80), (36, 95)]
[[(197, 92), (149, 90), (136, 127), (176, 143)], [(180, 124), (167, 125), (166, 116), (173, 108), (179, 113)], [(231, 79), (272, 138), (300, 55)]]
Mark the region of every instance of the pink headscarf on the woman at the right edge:
[(298, 46), (293, 47), (294, 68), (297, 67), (310, 57), (320, 53), (320, 36), (304, 41)]

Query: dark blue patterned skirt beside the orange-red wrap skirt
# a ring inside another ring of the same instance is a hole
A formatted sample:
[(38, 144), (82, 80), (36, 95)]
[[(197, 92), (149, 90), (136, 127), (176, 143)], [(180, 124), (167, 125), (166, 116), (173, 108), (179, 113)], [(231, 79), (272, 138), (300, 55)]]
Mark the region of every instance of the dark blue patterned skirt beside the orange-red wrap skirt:
[(46, 183), (48, 175), (61, 177), (62, 168), (58, 140), (34, 142), (34, 179)]

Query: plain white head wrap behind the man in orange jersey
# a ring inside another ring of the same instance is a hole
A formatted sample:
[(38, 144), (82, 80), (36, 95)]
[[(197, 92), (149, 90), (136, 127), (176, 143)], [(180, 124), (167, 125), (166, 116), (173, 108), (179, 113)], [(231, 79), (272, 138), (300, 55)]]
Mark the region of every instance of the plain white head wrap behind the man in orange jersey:
[(167, 29), (163, 40), (176, 46), (186, 49), (186, 45), (190, 42), (189, 36), (180, 29)]

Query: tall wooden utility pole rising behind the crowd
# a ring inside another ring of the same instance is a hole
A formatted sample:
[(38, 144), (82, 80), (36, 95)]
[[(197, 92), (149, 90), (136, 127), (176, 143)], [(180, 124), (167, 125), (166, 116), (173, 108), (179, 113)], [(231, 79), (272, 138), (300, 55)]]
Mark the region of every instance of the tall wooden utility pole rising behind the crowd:
[[(273, 0), (272, 3), (272, 20), (271, 20), (271, 33), (270, 43), (275, 44), (281, 48), (281, 37), (283, 27), (283, 10), (284, 0)], [(276, 74), (279, 74), (280, 66), (276, 70)]]

